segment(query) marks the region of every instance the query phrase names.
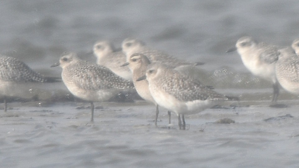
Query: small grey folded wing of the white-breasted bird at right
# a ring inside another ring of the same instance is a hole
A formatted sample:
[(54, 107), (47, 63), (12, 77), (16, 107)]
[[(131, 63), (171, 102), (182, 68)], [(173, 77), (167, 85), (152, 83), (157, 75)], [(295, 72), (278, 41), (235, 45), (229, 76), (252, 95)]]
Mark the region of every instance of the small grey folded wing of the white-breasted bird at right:
[(266, 63), (273, 63), (278, 60), (279, 52), (278, 48), (275, 46), (271, 46), (265, 43), (259, 43), (259, 50), (261, 54), (259, 55), (260, 60)]

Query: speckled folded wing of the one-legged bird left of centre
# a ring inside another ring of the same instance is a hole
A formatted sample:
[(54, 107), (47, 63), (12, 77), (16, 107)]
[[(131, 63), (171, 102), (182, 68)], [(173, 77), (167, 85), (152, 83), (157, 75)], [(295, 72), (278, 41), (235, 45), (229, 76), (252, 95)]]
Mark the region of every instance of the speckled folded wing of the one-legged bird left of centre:
[(86, 90), (134, 88), (133, 83), (122, 79), (111, 70), (86, 61), (75, 65), (70, 77), (78, 88)]

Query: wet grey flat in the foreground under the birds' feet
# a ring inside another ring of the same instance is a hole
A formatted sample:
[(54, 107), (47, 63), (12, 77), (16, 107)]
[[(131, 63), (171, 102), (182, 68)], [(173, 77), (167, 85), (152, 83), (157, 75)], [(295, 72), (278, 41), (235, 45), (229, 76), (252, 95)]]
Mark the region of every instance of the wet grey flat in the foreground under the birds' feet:
[[(144, 101), (95, 103), (94, 123), (88, 103), (14, 102), (0, 113), (1, 166), (296, 167), (299, 101), (279, 103), (225, 102), (186, 116), (184, 131), (165, 109), (155, 127)], [(235, 123), (217, 123), (224, 118)]]

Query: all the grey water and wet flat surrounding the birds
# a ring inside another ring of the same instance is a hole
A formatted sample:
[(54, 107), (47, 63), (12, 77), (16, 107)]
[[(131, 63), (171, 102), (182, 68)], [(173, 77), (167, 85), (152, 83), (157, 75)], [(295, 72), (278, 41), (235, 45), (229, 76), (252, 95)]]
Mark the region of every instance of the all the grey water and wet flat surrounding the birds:
[[(189, 129), (181, 131), (174, 115), (167, 128), (165, 110), (156, 128), (154, 107), (138, 101), (97, 103), (91, 124), (90, 109), (76, 109), (88, 104), (72, 102), (62, 83), (33, 86), (24, 95), (37, 102), (0, 111), (1, 167), (297, 167), (298, 96), (282, 90), (278, 103), (287, 107), (270, 107), (271, 84), (225, 52), (243, 35), (290, 45), (299, 37), (298, 8), (295, 0), (1, 2), (1, 53), (44, 75), (60, 76), (50, 65), (65, 51), (92, 61), (86, 53), (96, 41), (119, 47), (133, 36), (205, 62), (198, 78), (241, 99), (187, 116)], [(286, 114), (293, 117), (278, 117)], [(235, 123), (214, 123), (223, 118)]]

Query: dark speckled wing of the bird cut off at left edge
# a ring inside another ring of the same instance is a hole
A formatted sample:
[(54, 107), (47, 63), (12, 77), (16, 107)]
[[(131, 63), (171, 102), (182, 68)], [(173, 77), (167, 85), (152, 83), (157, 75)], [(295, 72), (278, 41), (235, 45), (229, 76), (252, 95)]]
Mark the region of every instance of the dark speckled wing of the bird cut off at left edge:
[(12, 57), (0, 57), (0, 78), (14, 82), (46, 82), (47, 79), (22, 61)]

